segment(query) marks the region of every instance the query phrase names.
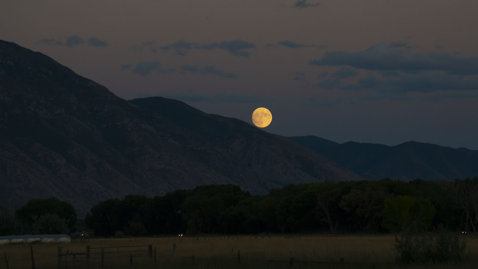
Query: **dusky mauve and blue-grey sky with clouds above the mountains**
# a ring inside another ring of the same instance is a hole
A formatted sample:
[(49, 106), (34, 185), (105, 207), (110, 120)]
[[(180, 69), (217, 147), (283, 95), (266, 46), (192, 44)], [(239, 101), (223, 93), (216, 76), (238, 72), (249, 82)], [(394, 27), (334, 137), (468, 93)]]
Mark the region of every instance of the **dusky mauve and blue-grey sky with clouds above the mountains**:
[(0, 39), (125, 99), (478, 150), (477, 0), (4, 0)]

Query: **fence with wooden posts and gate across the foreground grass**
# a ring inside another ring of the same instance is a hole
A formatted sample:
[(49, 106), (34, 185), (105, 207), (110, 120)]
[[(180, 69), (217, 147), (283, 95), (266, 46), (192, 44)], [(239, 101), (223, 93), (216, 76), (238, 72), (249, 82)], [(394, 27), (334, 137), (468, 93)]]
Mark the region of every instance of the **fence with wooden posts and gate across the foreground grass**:
[[(58, 269), (83, 269), (83, 268), (163, 268), (164, 266), (175, 267), (195, 267), (195, 265), (210, 265), (217, 268), (226, 265), (248, 266), (254, 265), (255, 268), (261, 265), (269, 265), (274, 267), (275, 264), (281, 266), (298, 266), (300, 264), (340, 264), (340, 265), (391, 265), (393, 263), (364, 263), (345, 261), (340, 258), (337, 261), (320, 261), (320, 260), (301, 260), (296, 258), (274, 259), (268, 257), (265, 251), (240, 251), (216, 254), (212, 256), (178, 256), (176, 255), (176, 245), (173, 245), (173, 255), (156, 255), (156, 247), (152, 245), (140, 246), (112, 246), (112, 247), (86, 247), (85, 252), (63, 252), (62, 247), (58, 247), (58, 252), (54, 254), (34, 253), (33, 247), (30, 246), (31, 257), (9, 259), (7, 253), (3, 253), (3, 261), (0, 260), (0, 269), (17, 269), (17, 268), (35, 268), (34, 257), (45, 257), (40, 260), (39, 268), (54, 268), (55, 258)], [(101, 251), (99, 251), (101, 250)], [(105, 251), (106, 250), (106, 251)], [(116, 250), (116, 251), (115, 251)], [(30, 256), (30, 255), (28, 255)], [(5, 264), (5, 266), (3, 265)], [(45, 267), (45, 264), (48, 264)], [(31, 266), (30, 266), (31, 265)], [(38, 265), (38, 264), (37, 264)], [(144, 265), (146, 267), (141, 267)], [(113, 266), (113, 267), (112, 267)]]

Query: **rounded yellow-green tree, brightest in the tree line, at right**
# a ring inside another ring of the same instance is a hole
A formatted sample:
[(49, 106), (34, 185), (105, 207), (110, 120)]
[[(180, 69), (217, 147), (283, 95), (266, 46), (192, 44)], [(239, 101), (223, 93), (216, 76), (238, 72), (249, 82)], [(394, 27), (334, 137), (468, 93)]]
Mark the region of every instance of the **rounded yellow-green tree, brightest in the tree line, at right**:
[(382, 226), (391, 232), (416, 233), (430, 228), (435, 207), (424, 198), (397, 196), (385, 199)]

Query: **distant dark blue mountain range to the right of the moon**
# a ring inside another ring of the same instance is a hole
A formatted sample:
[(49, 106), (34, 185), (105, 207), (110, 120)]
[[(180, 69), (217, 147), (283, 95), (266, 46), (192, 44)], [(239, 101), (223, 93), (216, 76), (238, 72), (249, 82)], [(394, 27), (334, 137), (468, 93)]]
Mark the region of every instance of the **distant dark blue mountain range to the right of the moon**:
[[(315, 146), (318, 137), (291, 137), (292, 140), (326, 156), (331, 161), (367, 179), (385, 177), (401, 180), (465, 179), (478, 176), (478, 151), (453, 149), (409, 141), (396, 146), (346, 142)], [(325, 140), (329, 141), (329, 140)], [(332, 141), (330, 141), (332, 142)]]

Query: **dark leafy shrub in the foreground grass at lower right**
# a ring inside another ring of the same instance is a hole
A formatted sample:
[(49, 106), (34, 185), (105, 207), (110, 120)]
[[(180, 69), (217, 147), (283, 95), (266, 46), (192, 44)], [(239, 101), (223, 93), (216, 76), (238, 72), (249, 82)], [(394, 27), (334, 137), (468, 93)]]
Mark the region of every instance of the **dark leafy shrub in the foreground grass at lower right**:
[(466, 241), (457, 233), (439, 227), (435, 233), (395, 236), (395, 250), (402, 265), (424, 263), (458, 263), (466, 257)]

